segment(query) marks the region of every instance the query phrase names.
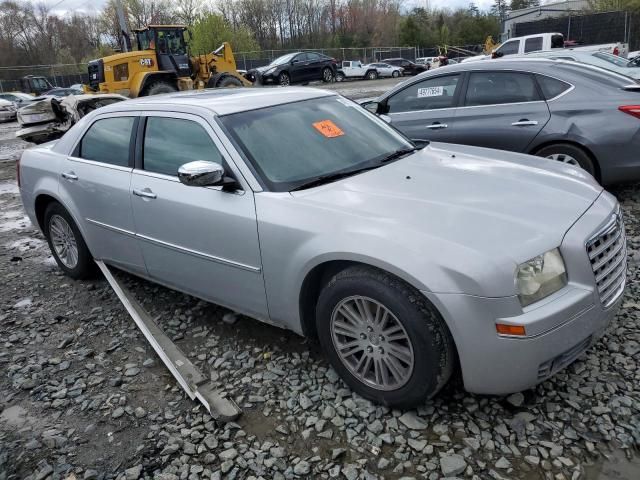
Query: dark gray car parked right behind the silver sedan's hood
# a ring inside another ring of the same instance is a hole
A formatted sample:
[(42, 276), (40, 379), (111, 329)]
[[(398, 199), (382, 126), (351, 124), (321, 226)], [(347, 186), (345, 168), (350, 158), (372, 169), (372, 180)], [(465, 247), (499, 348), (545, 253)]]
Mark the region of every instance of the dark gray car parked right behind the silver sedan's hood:
[(463, 63), (363, 105), (413, 139), (547, 157), (578, 165), (602, 184), (640, 180), (640, 84), (598, 67)]

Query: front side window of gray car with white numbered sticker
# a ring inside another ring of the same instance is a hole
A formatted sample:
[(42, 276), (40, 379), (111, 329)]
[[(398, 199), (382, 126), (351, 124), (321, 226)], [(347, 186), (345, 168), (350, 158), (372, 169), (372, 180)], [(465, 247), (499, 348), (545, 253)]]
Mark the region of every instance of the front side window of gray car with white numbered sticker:
[(454, 107), (460, 75), (430, 78), (414, 83), (387, 99), (388, 113)]

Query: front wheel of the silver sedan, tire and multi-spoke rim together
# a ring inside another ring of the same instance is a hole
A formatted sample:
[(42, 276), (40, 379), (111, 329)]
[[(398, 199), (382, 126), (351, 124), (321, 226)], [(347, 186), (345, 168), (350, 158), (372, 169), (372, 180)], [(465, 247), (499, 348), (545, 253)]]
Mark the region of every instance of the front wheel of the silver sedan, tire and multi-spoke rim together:
[(320, 293), (316, 326), (345, 383), (383, 405), (420, 405), (453, 371), (453, 340), (440, 314), (386, 272), (358, 266), (335, 275)]

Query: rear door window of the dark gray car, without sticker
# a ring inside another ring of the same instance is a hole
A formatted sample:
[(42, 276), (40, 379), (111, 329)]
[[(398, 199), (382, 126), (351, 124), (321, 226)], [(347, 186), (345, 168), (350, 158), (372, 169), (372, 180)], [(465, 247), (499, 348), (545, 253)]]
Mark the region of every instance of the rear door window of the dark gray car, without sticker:
[(499, 105), (503, 103), (542, 100), (533, 76), (517, 72), (473, 72), (465, 106)]

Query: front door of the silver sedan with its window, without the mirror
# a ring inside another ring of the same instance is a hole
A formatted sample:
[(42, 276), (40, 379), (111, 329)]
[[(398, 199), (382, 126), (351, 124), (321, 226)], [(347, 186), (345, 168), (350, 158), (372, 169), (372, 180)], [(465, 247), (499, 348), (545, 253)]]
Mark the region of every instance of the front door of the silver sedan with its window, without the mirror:
[(205, 160), (242, 181), (211, 126), (194, 115), (154, 113), (144, 119), (139, 138), (131, 202), (149, 275), (267, 318), (253, 192), (189, 187), (177, 177), (181, 165)]

